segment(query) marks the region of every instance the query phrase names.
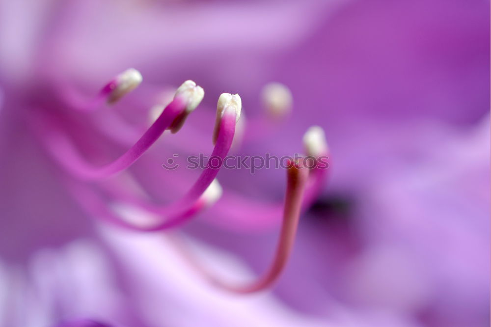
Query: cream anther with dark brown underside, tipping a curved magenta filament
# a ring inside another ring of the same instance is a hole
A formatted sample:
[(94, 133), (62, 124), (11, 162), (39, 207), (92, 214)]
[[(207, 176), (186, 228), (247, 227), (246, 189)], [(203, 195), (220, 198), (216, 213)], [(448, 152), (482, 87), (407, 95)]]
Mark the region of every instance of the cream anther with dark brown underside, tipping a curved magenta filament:
[(181, 127), (184, 125), (186, 117), (196, 109), (201, 100), (205, 95), (205, 91), (201, 86), (197, 86), (195, 82), (188, 80), (182, 83), (181, 86), (176, 91), (174, 100), (180, 99), (186, 105), (186, 110), (184, 110), (171, 124), (170, 132), (177, 133)]

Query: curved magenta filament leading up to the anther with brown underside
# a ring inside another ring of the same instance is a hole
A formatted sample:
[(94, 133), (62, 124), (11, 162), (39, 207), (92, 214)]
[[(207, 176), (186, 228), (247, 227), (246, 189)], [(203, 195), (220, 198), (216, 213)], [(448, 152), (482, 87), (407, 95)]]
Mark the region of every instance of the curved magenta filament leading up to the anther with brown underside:
[[(200, 88), (199, 86), (195, 88)], [(201, 89), (202, 94), (202, 89)], [(201, 97), (198, 97), (202, 99)], [(188, 100), (183, 102), (183, 100)], [(190, 101), (192, 104), (190, 105)], [(74, 145), (67, 138), (60, 128), (48, 123), (51, 126), (42, 131), (41, 136), (46, 141), (48, 150), (55, 159), (67, 170), (84, 179), (99, 179), (109, 177), (133, 164), (172, 124), (176, 122), (182, 113), (190, 108), (196, 108), (197, 98), (186, 99), (180, 94), (164, 109), (159, 118), (150, 126), (143, 136), (122, 156), (110, 164), (102, 167), (93, 167), (86, 163), (77, 152)], [(42, 118), (41, 118), (42, 120)], [(35, 123), (33, 123), (35, 125)], [(211, 182), (211, 181), (210, 181)]]

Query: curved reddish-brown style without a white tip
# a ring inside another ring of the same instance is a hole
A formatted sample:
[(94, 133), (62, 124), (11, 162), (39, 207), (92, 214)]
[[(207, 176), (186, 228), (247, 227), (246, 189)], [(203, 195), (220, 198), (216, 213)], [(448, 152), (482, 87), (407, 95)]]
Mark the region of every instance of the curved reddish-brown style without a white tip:
[(293, 162), (292, 160), (290, 168), (287, 169), (287, 187), (283, 210), (283, 223), (281, 225), (276, 253), (267, 273), (256, 281), (246, 285), (228, 284), (206, 270), (194, 256), (191, 255), (191, 252), (184, 244), (177, 243), (177, 250), (181, 252), (184, 258), (189, 261), (191, 266), (194, 267), (198, 273), (203, 274), (206, 279), (219, 288), (233, 293), (246, 294), (259, 292), (271, 287), (283, 271), (293, 248), (307, 176), (308, 169), (304, 168), (300, 162)]

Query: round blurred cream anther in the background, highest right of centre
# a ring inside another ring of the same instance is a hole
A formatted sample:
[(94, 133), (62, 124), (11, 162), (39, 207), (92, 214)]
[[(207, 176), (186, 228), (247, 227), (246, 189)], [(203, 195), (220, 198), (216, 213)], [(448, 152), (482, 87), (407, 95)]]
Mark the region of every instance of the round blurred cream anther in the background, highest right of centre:
[(271, 82), (263, 87), (261, 100), (267, 112), (274, 117), (288, 114), (293, 105), (290, 89), (278, 82)]

